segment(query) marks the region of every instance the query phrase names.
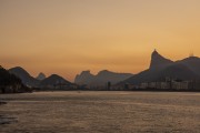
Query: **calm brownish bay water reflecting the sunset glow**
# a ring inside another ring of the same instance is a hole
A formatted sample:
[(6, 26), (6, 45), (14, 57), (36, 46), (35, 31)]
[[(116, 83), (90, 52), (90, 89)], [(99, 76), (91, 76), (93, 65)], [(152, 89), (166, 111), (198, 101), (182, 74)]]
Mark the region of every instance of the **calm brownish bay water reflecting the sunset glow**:
[(0, 133), (200, 133), (200, 93), (1, 94)]

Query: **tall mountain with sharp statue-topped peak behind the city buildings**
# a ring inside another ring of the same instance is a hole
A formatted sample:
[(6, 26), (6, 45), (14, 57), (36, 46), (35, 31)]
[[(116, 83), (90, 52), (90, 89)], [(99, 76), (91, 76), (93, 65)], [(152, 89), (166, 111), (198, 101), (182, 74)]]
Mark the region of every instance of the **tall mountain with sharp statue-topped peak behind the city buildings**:
[(150, 68), (119, 84), (140, 84), (142, 82), (164, 81), (166, 78), (179, 80), (200, 80), (200, 58), (190, 57), (180, 61), (171, 61), (156, 50), (151, 54)]

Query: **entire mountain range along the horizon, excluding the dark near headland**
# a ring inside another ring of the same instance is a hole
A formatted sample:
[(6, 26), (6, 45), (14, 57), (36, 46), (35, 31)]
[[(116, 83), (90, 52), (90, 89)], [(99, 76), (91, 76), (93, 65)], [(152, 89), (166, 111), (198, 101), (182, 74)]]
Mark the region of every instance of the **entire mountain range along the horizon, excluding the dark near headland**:
[[(48, 78), (39, 73), (37, 78), (31, 76), (24, 69), (16, 66), (9, 70), (10, 73), (21, 79), (28, 86), (53, 86), (54, 84), (72, 84), (60, 75), (52, 74)], [(82, 71), (74, 79), (74, 83), (88, 86), (106, 86), (111, 84), (140, 84), (143, 82), (166, 81), (167, 78), (178, 80), (200, 80), (200, 58), (189, 57), (179, 61), (171, 61), (156, 50), (151, 54), (149, 69), (138, 73), (116, 73), (108, 70), (91, 74), (90, 71)]]

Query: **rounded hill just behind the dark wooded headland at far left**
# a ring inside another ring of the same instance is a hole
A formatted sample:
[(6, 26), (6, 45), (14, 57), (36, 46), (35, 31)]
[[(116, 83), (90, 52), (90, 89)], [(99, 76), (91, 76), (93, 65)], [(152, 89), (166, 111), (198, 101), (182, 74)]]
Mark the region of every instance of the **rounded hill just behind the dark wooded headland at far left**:
[(28, 86), (37, 86), (39, 84), (39, 80), (31, 76), (21, 66), (16, 66), (16, 68), (9, 69), (9, 72), (14, 74), (16, 76), (20, 78), (22, 80), (23, 84), (26, 84)]

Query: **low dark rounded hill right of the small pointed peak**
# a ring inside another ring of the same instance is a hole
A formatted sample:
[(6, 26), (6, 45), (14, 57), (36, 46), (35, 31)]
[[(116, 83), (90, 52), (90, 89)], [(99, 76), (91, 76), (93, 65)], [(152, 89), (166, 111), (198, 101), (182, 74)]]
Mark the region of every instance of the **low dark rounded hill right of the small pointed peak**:
[(58, 74), (52, 74), (40, 82), (40, 86), (43, 86), (43, 88), (53, 88), (53, 85), (56, 84), (70, 85), (72, 83), (64, 80), (62, 76)]

